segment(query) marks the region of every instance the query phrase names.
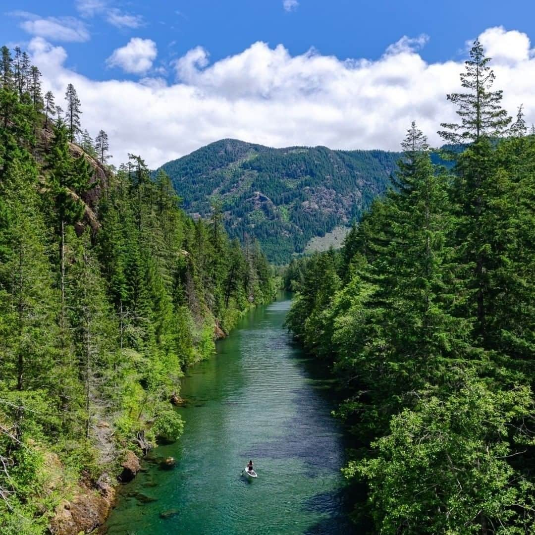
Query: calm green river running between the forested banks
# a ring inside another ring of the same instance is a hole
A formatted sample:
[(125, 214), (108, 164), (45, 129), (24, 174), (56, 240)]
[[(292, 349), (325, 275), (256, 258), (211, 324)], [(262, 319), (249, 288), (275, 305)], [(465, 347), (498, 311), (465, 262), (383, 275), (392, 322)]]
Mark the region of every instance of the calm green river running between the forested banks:
[[(283, 326), (289, 294), (251, 310), (189, 369), (180, 440), (121, 488), (108, 535), (354, 533), (333, 384)], [(177, 465), (162, 470), (158, 458)], [(240, 476), (253, 459), (258, 478)]]

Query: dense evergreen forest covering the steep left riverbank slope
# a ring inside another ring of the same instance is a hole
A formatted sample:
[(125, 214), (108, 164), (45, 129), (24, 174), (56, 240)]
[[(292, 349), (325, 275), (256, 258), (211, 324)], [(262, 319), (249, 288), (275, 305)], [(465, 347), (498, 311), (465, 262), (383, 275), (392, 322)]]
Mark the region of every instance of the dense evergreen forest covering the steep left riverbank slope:
[(25, 52), (0, 78), (0, 531), (44, 533), (83, 478), (175, 440), (170, 396), (248, 307), (273, 298), (258, 243), (194, 221), (162, 171), (81, 130)]

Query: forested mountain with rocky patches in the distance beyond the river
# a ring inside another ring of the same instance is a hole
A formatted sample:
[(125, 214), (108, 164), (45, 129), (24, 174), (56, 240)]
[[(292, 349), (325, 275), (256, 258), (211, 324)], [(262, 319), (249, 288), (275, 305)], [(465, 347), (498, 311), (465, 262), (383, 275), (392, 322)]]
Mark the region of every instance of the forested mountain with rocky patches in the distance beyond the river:
[(225, 139), (164, 164), (185, 210), (209, 217), (219, 198), (232, 237), (252, 235), (286, 263), (314, 236), (359, 219), (385, 192), (400, 155), (326, 147), (273, 149)]

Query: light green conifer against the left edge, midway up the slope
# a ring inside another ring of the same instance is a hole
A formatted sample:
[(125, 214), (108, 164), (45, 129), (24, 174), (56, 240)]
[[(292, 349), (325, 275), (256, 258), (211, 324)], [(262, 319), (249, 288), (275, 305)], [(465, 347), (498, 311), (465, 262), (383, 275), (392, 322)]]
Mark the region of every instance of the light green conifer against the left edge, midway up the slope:
[(57, 351), (57, 301), (36, 182), (35, 167), (17, 159), (0, 188), (0, 376), (18, 391), (47, 384)]

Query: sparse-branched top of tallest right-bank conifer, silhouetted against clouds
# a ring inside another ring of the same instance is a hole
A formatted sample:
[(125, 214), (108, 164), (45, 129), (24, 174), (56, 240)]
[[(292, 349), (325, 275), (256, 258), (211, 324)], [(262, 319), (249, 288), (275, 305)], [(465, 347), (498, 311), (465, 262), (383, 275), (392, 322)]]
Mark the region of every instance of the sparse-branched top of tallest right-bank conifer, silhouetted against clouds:
[(470, 59), (465, 62), (466, 71), (461, 74), (461, 85), (466, 93), (452, 93), (448, 100), (458, 105), (457, 114), (461, 124), (442, 123), (446, 128), (439, 134), (450, 143), (470, 143), (481, 136), (499, 136), (511, 122), (507, 112), (500, 106), (502, 91), (492, 91), (495, 75), (485, 57), (482, 44), (476, 40), (470, 50)]

